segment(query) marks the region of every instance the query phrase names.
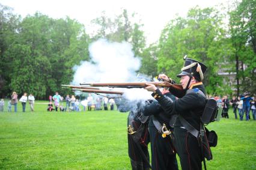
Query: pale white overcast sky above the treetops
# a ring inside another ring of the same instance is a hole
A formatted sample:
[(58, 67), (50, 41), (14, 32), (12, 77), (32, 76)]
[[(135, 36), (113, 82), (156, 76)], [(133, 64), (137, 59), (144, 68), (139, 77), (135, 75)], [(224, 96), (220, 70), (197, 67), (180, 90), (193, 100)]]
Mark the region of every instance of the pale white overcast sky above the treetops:
[(95, 28), (90, 24), (91, 20), (99, 17), (105, 11), (109, 17), (121, 14), (122, 9), (128, 13), (137, 13), (136, 20), (144, 25), (142, 28), (147, 38), (147, 44), (156, 42), (164, 26), (175, 16), (186, 16), (190, 8), (199, 6), (220, 7), (227, 5), (231, 0), (0, 0), (0, 4), (13, 8), (13, 12), (20, 14), (22, 18), (33, 15), (36, 11), (53, 18), (65, 18), (69, 16), (85, 25), (88, 34)]

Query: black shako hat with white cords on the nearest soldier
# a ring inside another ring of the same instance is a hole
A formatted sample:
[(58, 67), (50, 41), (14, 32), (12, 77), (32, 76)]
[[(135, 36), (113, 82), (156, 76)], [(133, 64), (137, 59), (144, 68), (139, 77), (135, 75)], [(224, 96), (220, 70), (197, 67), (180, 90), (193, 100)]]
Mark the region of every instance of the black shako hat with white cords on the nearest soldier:
[(177, 77), (181, 76), (194, 76), (198, 81), (203, 81), (204, 72), (206, 72), (206, 65), (202, 62), (196, 61), (195, 59), (187, 58), (184, 56), (185, 60), (184, 67), (181, 68), (181, 73), (177, 75)]

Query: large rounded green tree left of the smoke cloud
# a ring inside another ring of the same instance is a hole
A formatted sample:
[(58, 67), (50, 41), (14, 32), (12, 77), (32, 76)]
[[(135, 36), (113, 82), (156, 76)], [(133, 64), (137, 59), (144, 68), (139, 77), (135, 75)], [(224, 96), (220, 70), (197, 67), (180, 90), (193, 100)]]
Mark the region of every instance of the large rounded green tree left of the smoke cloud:
[(88, 35), (76, 20), (35, 13), (19, 25), (18, 38), (5, 53), (11, 57), (10, 88), (46, 99), (73, 79), (72, 67), (88, 59)]

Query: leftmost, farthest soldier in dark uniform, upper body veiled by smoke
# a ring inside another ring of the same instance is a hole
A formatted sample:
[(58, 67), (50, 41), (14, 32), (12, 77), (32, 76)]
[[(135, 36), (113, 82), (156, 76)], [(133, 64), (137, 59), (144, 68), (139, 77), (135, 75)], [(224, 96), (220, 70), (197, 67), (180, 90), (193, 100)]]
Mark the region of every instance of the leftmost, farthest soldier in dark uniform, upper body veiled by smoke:
[(148, 153), (148, 143), (150, 136), (148, 133), (148, 117), (141, 112), (141, 107), (147, 101), (140, 101), (131, 104), (125, 99), (115, 100), (118, 105), (118, 111), (129, 112), (127, 119), (127, 140), (128, 154), (133, 170), (149, 170), (150, 156)]

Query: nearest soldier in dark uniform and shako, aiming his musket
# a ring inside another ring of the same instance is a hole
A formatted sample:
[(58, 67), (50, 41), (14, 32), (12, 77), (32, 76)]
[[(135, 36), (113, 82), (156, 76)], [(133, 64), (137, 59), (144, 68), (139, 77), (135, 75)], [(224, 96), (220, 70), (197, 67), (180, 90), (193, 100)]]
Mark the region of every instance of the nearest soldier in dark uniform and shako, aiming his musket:
[[(186, 94), (178, 100), (171, 101), (152, 84), (148, 83), (148, 91), (153, 91), (152, 96), (159, 102), (168, 115), (178, 115), (174, 123), (175, 148), (182, 169), (202, 169), (203, 154), (197, 135), (189, 132), (184, 127), (184, 121), (189, 123), (197, 131), (200, 130), (200, 117), (206, 105), (205, 89), (203, 82), (206, 65), (194, 59), (185, 58), (184, 67), (177, 77), (181, 77), (180, 83)], [(168, 81), (169, 78), (160, 74), (160, 78)], [(182, 123), (181, 123), (182, 122)], [(192, 135), (194, 134), (194, 135)]]

